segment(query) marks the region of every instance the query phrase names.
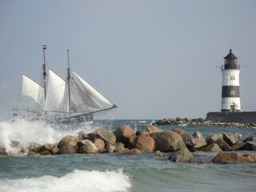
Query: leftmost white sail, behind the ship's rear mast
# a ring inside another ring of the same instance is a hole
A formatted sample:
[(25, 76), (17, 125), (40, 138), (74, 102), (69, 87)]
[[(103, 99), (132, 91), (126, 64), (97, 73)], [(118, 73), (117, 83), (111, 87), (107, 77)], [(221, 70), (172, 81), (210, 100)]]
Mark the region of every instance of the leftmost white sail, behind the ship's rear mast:
[(26, 75), (22, 75), (22, 90), (17, 110), (40, 112), (43, 105), (44, 89)]

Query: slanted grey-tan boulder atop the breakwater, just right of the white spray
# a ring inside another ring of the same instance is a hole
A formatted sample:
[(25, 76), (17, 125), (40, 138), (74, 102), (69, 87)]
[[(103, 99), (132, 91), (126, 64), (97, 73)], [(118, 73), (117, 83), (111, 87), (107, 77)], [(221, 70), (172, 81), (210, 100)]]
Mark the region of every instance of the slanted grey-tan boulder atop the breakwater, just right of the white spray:
[(99, 128), (95, 130), (93, 133), (88, 134), (90, 141), (94, 142), (96, 138), (101, 138), (104, 142), (114, 144), (116, 142), (116, 137), (110, 131)]

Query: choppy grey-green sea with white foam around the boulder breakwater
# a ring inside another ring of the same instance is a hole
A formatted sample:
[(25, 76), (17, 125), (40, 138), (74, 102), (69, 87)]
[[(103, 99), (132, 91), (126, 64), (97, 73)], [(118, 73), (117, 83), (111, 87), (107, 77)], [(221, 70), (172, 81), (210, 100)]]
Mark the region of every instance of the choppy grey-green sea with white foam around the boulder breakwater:
[[(21, 154), (31, 143), (58, 143), (66, 135), (85, 134), (104, 127), (113, 131), (130, 125), (146, 130), (154, 120), (95, 120), (92, 124), (50, 125), (44, 122), (2, 120), (0, 146), (9, 155), (0, 156), (0, 192), (206, 192), (256, 191), (256, 163), (214, 164), (216, 153), (195, 152), (200, 161), (170, 162), (170, 154), (65, 154), (27, 156)], [(236, 132), (243, 138), (256, 135), (254, 128), (159, 126), (163, 130), (181, 127), (188, 133)], [(15, 143), (18, 142), (18, 145)], [(251, 153), (254, 151), (239, 151)]]

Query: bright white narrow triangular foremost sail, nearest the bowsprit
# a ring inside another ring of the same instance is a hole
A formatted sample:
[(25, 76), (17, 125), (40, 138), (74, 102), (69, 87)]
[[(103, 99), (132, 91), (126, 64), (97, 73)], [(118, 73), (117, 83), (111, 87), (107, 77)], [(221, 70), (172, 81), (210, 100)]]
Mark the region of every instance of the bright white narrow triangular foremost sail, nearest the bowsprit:
[(81, 77), (78, 76), (78, 74), (74, 73), (74, 71), (72, 71), (73, 74), (75, 76), (77, 76), (78, 80), (81, 82), (82, 87), (86, 90), (86, 93), (91, 97), (91, 98), (97, 98), (99, 101), (106, 103), (107, 105), (112, 106), (112, 104), (106, 100), (106, 98), (104, 98), (102, 96), (102, 94), (99, 94), (97, 90), (94, 90), (94, 88), (92, 86), (90, 86), (90, 84), (88, 82), (86, 82), (84, 79), (82, 79)]

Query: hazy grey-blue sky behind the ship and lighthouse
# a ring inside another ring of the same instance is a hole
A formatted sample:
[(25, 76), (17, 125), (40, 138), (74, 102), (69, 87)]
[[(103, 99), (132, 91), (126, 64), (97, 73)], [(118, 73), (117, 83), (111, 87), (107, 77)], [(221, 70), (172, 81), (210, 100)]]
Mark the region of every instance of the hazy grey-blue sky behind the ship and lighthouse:
[(22, 74), (70, 68), (118, 109), (100, 118), (206, 118), (221, 110), (222, 73), (238, 57), (241, 106), (256, 110), (254, 0), (0, 0), (0, 115)]

